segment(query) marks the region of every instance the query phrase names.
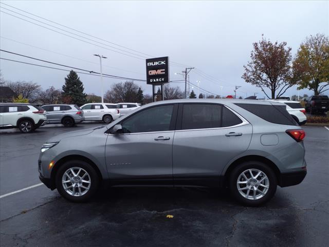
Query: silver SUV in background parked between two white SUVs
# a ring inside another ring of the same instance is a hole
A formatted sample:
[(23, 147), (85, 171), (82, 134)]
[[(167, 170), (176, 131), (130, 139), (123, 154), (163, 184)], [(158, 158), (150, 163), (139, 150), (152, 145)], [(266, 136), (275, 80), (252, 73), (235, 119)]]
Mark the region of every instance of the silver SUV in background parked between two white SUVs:
[(47, 111), (47, 123), (62, 123), (72, 127), (84, 121), (83, 111), (76, 104), (45, 104), (42, 108)]

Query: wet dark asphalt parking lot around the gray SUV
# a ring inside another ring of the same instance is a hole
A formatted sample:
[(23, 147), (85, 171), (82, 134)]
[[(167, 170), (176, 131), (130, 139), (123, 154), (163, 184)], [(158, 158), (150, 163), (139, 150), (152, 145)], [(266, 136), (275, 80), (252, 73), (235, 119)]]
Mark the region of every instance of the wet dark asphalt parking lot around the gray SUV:
[(99, 125), (0, 132), (1, 246), (329, 246), (329, 129), (304, 127), (305, 180), (258, 208), (202, 188), (111, 188), (76, 204), (40, 185), (45, 140)]

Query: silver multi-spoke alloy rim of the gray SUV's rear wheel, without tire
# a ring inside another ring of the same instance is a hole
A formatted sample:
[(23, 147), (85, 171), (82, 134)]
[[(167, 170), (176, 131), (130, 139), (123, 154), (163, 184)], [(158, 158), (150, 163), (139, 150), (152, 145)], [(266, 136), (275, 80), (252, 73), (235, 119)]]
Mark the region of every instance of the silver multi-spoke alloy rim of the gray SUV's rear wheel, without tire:
[(263, 198), (269, 189), (267, 175), (259, 169), (248, 169), (243, 171), (236, 181), (237, 190), (240, 195), (249, 200)]

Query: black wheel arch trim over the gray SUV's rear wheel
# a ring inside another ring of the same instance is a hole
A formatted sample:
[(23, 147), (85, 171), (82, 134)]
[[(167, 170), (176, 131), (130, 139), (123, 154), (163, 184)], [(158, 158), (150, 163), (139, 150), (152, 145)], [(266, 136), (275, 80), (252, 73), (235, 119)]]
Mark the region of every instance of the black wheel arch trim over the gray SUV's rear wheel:
[(223, 185), (225, 187), (228, 185), (229, 176), (230, 176), (231, 172), (233, 171), (233, 169), (235, 167), (237, 167), (238, 165), (240, 165), (241, 163), (247, 162), (247, 161), (258, 161), (258, 162), (262, 162), (262, 163), (268, 165), (275, 173), (277, 182), (278, 183), (280, 182), (281, 172), (275, 163), (273, 163), (271, 160), (269, 160), (268, 158), (261, 156), (261, 155), (246, 155), (246, 156), (240, 157), (237, 160), (235, 160), (234, 162), (232, 162), (226, 169), (226, 171), (224, 173), (224, 183), (223, 183)]

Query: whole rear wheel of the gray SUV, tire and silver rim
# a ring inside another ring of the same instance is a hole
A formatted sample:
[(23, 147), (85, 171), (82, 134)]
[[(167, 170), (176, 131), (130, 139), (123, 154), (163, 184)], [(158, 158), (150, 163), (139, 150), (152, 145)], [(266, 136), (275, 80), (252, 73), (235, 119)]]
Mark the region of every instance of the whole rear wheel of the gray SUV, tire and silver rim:
[(277, 190), (275, 173), (264, 163), (244, 162), (230, 175), (230, 190), (235, 200), (246, 206), (268, 202)]

